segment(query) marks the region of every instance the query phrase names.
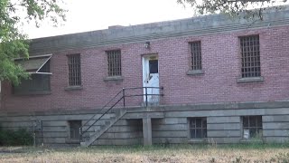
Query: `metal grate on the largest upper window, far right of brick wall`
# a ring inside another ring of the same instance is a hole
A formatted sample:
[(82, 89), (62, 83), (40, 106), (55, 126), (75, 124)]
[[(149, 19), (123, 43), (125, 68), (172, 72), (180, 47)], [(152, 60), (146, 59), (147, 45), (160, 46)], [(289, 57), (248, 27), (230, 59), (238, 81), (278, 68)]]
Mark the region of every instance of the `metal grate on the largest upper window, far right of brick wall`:
[(242, 78), (261, 76), (259, 35), (239, 37), (242, 55)]

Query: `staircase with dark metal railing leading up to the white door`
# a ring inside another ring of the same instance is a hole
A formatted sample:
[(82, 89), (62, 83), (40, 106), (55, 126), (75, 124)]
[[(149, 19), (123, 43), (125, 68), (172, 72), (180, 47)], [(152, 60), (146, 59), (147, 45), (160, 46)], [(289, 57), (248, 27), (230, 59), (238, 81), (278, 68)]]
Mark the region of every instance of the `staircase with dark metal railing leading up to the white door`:
[[(130, 94), (127, 95), (126, 91), (128, 90), (144, 90), (143, 94)], [(126, 98), (143, 96), (145, 101), (145, 106), (148, 106), (148, 97), (149, 96), (163, 96), (163, 93), (150, 94), (148, 89), (158, 89), (163, 90), (163, 87), (134, 87), (134, 88), (124, 88), (122, 91), (119, 91), (116, 96), (114, 96), (107, 104), (102, 107), (101, 110), (87, 120), (79, 128), (79, 142), (82, 147), (89, 147), (92, 145), (102, 134), (104, 134), (107, 129), (113, 126), (117, 120), (120, 120), (126, 114)], [(123, 107), (115, 108), (117, 104), (123, 101)], [(112, 104), (110, 107), (109, 104)], [(115, 110), (113, 110), (115, 109)], [(105, 119), (106, 116), (111, 116), (109, 119)], [(99, 116), (99, 117), (98, 117)]]

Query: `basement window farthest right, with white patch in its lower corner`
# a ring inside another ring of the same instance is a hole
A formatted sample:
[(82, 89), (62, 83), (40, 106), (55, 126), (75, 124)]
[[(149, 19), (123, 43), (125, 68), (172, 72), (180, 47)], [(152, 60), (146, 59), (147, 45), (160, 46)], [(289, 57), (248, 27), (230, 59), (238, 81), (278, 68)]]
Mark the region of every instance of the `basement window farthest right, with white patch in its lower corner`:
[(242, 120), (244, 139), (262, 137), (262, 116), (246, 116)]

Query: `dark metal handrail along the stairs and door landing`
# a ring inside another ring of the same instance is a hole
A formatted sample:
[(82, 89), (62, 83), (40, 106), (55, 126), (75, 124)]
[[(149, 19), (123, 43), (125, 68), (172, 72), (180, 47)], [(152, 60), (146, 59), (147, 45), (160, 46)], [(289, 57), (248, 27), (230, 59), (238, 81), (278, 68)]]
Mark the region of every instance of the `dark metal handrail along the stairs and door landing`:
[[(145, 93), (143, 93), (143, 94), (126, 95), (126, 90), (137, 90), (137, 89), (144, 89), (144, 90), (145, 90)], [(117, 95), (115, 95), (110, 101), (108, 101), (104, 107), (102, 107), (100, 110), (98, 110), (98, 112), (97, 112), (95, 115), (93, 115), (89, 120), (87, 120), (87, 121), (79, 128), (79, 141), (82, 140), (83, 134), (86, 133), (86, 132), (88, 132), (88, 130), (89, 130), (93, 125), (95, 125), (95, 124), (98, 122), (98, 120), (100, 120), (102, 117), (104, 117), (109, 110), (112, 110), (112, 109), (117, 105), (117, 103), (118, 103), (119, 101), (123, 100), (123, 102), (124, 102), (123, 105), (124, 105), (124, 108), (125, 108), (125, 107), (126, 107), (126, 97), (145, 96), (145, 99), (146, 99), (146, 100), (145, 100), (145, 106), (147, 107), (147, 104), (148, 104), (148, 103), (147, 103), (147, 96), (151, 96), (151, 95), (154, 95), (154, 96), (163, 96), (163, 93), (162, 93), (162, 94), (161, 94), (161, 93), (159, 93), (159, 94), (148, 94), (148, 93), (147, 93), (147, 89), (159, 89), (159, 90), (163, 90), (163, 87), (129, 87), (129, 88), (123, 88), (121, 91), (118, 91), (118, 92), (117, 92)], [(107, 105), (108, 105), (111, 101), (114, 101), (121, 92), (122, 92), (122, 96), (118, 99), (117, 102), (115, 102), (111, 107), (109, 107), (108, 110), (106, 110), (100, 117), (98, 117), (97, 120), (95, 120), (91, 125), (89, 125), (89, 128), (88, 128), (88, 129), (82, 130), (83, 127), (86, 126), (86, 125), (89, 123), (90, 120), (93, 120), (93, 119), (98, 115), (98, 113), (100, 113), (102, 110), (106, 109), (106, 108), (107, 108)]]

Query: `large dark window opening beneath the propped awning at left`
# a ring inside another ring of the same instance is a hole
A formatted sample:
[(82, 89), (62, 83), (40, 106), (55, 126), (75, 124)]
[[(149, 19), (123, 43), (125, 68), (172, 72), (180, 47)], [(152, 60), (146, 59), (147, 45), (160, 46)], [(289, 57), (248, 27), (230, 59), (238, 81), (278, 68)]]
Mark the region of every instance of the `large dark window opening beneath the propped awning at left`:
[[(46, 62), (39, 72), (50, 72), (50, 61)], [(19, 85), (13, 86), (14, 94), (33, 94), (51, 91), (51, 75), (33, 73), (29, 79), (22, 80)]]

